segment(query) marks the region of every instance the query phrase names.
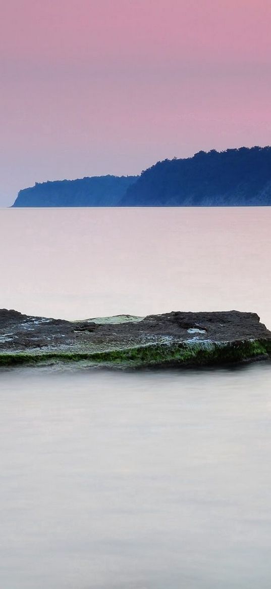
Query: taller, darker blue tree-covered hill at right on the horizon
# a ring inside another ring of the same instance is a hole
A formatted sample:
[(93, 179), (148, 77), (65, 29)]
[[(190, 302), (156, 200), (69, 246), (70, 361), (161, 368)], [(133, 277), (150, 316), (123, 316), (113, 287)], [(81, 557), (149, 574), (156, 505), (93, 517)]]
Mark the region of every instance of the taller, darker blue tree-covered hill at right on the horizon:
[(199, 151), (159, 161), (130, 186), (122, 206), (271, 204), (271, 147)]

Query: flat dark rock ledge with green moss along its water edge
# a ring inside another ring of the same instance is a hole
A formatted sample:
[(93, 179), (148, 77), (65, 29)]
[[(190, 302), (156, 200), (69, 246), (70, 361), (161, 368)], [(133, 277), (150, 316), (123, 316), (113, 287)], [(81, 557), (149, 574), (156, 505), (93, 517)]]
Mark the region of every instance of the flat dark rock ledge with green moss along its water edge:
[(66, 321), (0, 309), (0, 366), (76, 362), (107, 368), (225, 365), (267, 359), (256, 313), (171, 312)]

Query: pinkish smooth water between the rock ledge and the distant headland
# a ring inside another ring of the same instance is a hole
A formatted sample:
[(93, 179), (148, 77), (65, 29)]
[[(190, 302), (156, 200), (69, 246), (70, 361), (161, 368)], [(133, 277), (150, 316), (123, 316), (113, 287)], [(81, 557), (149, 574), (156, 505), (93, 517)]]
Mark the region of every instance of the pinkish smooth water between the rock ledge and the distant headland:
[(0, 210), (1, 303), (85, 319), (255, 311), (271, 327), (271, 207)]

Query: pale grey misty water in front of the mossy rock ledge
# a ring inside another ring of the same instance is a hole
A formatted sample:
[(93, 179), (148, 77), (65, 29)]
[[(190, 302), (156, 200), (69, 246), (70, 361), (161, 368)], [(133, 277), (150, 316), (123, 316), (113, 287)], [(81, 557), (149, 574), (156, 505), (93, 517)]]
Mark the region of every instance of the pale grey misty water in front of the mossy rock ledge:
[(270, 377), (1, 373), (1, 587), (269, 589)]

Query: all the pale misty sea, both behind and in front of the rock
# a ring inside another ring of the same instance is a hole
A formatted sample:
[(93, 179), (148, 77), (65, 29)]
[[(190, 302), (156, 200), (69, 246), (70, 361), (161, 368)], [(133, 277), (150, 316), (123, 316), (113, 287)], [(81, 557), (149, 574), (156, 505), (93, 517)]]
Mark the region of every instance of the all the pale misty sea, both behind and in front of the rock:
[[(270, 209), (0, 211), (1, 307), (259, 313)], [(3, 589), (270, 587), (271, 364), (0, 372)]]

